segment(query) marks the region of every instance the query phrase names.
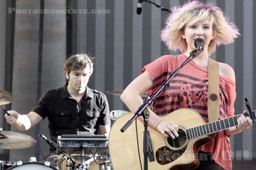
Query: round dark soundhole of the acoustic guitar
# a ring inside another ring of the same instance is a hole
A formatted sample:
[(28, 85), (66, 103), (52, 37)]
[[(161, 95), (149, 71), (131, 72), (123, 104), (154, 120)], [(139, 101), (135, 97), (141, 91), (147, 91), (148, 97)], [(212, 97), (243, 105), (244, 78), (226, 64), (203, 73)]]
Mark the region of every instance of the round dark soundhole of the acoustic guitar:
[(172, 137), (166, 138), (168, 144), (171, 147), (174, 148), (180, 148), (183, 147), (184, 144), (186, 143), (186, 133), (184, 132), (184, 130), (180, 129), (178, 131), (179, 137), (175, 137), (175, 139), (172, 139)]

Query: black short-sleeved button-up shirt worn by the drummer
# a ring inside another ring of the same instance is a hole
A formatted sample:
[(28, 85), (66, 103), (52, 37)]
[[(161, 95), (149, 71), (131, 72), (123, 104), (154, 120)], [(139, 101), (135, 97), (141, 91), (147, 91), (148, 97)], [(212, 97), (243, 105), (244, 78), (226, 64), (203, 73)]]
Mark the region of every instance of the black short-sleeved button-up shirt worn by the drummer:
[(70, 96), (67, 85), (47, 91), (32, 111), (48, 117), (54, 142), (62, 134), (98, 134), (99, 125), (111, 124), (105, 94), (88, 87), (80, 102)]

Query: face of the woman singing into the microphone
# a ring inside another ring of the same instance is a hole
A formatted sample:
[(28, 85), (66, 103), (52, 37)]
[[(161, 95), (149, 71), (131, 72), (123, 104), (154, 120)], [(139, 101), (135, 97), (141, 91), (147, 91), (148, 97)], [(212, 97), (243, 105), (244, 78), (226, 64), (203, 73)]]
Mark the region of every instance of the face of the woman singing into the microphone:
[(196, 39), (201, 38), (204, 40), (205, 51), (208, 50), (208, 45), (213, 39), (212, 23), (209, 20), (198, 21), (195, 24), (188, 24), (185, 27), (182, 38), (186, 39), (188, 45), (187, 51), (196, 49), (194, 42)]

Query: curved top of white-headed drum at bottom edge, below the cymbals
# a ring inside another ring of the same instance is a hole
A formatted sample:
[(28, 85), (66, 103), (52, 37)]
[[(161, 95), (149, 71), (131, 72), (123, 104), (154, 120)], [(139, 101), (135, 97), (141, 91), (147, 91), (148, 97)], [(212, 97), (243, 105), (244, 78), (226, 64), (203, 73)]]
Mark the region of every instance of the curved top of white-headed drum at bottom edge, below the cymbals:
[(10, 167), (8, 170), (57, 170), (53, 166), (47, 166), (41, 162), (25, 162), (21, 165), (15, 165)]

